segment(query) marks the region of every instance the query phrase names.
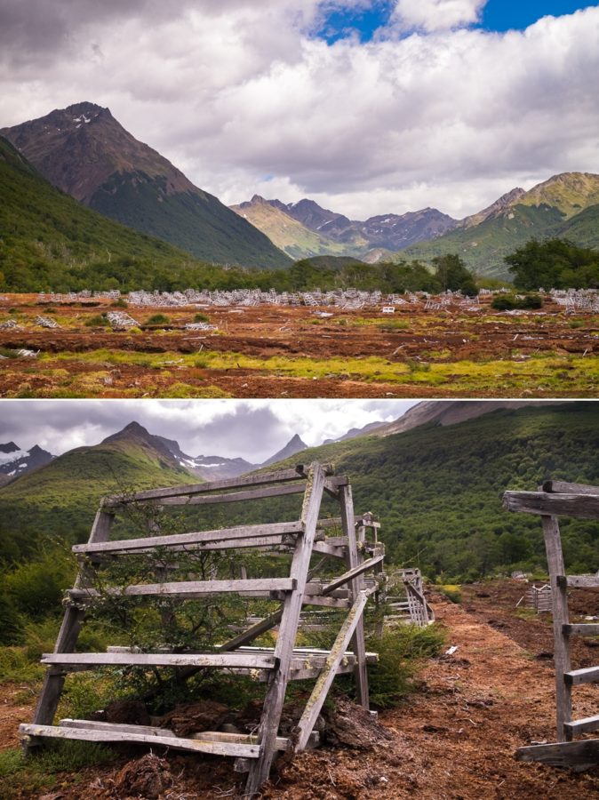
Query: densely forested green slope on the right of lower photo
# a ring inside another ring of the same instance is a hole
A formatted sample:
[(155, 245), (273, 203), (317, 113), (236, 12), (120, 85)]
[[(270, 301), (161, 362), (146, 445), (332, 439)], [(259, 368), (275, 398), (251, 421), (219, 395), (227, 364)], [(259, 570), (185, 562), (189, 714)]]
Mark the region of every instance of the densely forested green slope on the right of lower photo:
[[(508, 514), (501, 496), (535, 491), (548, 478), (598, 485), (598, 447), (599, 403), (567, 403), (361, 436), (301, 457), (347, 472), (356, 511), (380, 516), (389, 560), (463, 579), (501, 567), (543, 567), (539, 518)], [(596, 524), (564, 524), (563, 548), (571, 572), (599, 568)]]

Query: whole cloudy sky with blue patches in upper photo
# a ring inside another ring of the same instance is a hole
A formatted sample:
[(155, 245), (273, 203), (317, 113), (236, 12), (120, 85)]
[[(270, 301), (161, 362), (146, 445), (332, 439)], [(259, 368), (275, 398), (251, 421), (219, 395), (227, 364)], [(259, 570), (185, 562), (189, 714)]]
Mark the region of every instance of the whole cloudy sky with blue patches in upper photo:
[(226, 203), (456, 217), (599, 172), (599, 6), (0, 0), (0, 126), (108, 106)]

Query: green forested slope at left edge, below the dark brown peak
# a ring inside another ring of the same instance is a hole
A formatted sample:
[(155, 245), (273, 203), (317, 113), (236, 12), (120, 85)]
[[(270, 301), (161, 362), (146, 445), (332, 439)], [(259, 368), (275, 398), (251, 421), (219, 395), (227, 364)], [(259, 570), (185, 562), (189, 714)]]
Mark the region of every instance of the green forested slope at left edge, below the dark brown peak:
[(64, 195), (0, 137), (0, 271), (4, 289), (36, 291), (68, 264), (136, 259), (184, 266), (181, 252), (124, 228)]

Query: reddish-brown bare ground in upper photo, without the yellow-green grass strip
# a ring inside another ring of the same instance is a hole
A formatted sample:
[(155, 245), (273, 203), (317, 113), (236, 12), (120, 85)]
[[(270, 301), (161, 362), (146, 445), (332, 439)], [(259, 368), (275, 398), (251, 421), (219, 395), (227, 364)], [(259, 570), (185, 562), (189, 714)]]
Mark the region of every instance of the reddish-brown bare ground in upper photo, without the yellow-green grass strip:
[[(443, 383), (413, 380), (406, 372), (405, 380), (386, 380), (384, 364), (409, 364), (411, 370), (419, 364), (454, 364), (464, 361), (485, 363), (507, 360), (514, 365), (514, 375), (530, 358), (543, 356), (567, 359), (586, 356), (589, 361), (599, 353), (599, 331), (593, 315), (567, 316), (563, 309), (547, 303), (544, 313), (507, 316), (471, 312), (451, 307), (446, 311), (425, 310), (420, 306), (399, 307), (395, 315), (386, 316), (380, 308), (359, 311), (335, 310), (333, 316), (316, 316), (318, 309), (305, 307), (260, 306), (242, 309), (203, 309), (218, 332), (186, 331), (197, 308), (127, 308), (141, 326), (138, 332), (109, 332), (105, 328), (89, 327), (85, 322), (110, 310), (108, 300), (56, 305), (55, 313), (36, 303), (34, 295), (10, 295), (0, 303), (0, 321), (12, 318), (20, 330), (0, 329), (0, 347), (28, 348), (45, 354), (44, 361), (0, 361), (0, 396), (47, 396), (57, 388), (71, 389), (76, 396), (161, 396), (174, 383), (184, 383), (202, 389), (213, 387), (230, 396), (527, 396), (537, 394), (539, 381), (547, 372), (523, 376), (518, 389), (513, 383), (506, 386), (498, 381), (478, 380), (473, 385), (467, 374), (456, 372)], [(9, 313), (11, 310), (11, 313)], [(240, 313), (236, 313), (239, 311)], [(166, 330), (148, 326), (148, 319), (161, 313), (170, 317)], [(45, 329), (35, 324), (37, 315), (53, 316), (60, 329)], [(174, 354), (168, 368), (151, 369), (148, 364), (109, 364), (100, 350), (131, 354)], [(93, 358), (94, 351), (99, 353)], [(259, 363), (239, 364), (244, 359), (229, 358), (225, 369), (205, 368), (193, 363), (176, 362), (177, 356), (204, 352), (240, 354), (258, 359)], [(61, 360), (60, 354), (81, 354), (82, 359)], [(339, 359), (339, 364), (313, 376), (293, 372), (273, 364), (260, 364), (269, 358)], [(359, 361), (371, 356), (383, 359), (364, 374)], [(519, 366), (520, 365), (520, 366)], [(60, 371), (68, 371), (68, 380)], [(577, 378), (570, 365), (556, 364), (561, 378), (552, 385), (552, 396), (590, 396), (596, 386)], [(100, 375), (86, 392), (85, 375)], [(74, 376), (83, 382), (73, 384)], [(512, 375), (509, 376), (514, 377)], [(98, 384), (98, 380), (101, 381)], [(529, 381), (530, 386), (526, 384)], [(535, 382), (536, 380), (536, 382)], [(572, 389), (575, 391), (572, 391)]]

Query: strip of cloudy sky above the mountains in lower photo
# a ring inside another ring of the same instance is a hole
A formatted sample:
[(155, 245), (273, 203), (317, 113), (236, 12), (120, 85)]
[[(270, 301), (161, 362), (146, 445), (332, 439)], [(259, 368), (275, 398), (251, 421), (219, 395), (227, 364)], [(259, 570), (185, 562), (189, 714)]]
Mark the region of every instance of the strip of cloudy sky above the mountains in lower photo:
[(308, 445), (350, 428), (396, 420), (410, 400), (3, 400), (0, 444), (39, 444), (60, 455), (98, 444), (132, 421), (176, 439), (188, 455), (220, 455), (260, 463), (295, 434)]

